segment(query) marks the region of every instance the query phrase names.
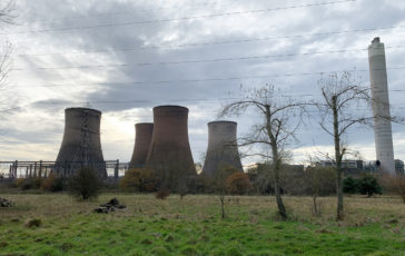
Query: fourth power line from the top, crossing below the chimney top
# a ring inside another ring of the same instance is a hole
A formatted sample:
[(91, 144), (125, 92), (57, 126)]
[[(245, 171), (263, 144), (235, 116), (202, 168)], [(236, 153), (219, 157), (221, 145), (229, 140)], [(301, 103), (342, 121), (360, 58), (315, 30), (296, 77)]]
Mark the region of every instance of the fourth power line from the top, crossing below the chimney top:
[[(402, 67), (391, 67), (386, 68), (386, 70), (401, 70), (405, 69), (405, 66)], [(383, 69), (373, 69), (373, 70), (383, 70)], [(246, 77), (225, 77), (225, 78), (201, 78), (201, 79), (179, 79), (179, 80), (157, 80), (157, 81), (128, 81), (128, 82), (91, 82), (91, 81), (80, 81), (80, 85), (165, 85), (165, 83), (195, 83), (195, 82), (211, 82), (211, 81), (230, 81), (230, 80), (245, 80), (245, 79), (263, 79), (263, 78), (276, 78), (276, 77), (296, 77), (296, 76), (322, 76), (327, 73), (335, 72), (345, 72), (347, 70), (329, 70), (329, 71), (318, 71), (318, 72), (300, 72), (300, 73), (273, 73), (273, 75), (264, 75), (264, 76), (246, 76)], [(358, 72), (368, 72), (369, 69), (353, 69), (352, 71)], [(21, 85), (17, 85), (22, 87)], [(30, 85), (27, 87), (63, 87), (63, 86), (73, 86), (67, 83), (41, 83), (41, 85)], [(78, 86), (78, 83), (75, 83)], [(399, 90), (392, 90), (399, 91)], [(402, 91), (402, 90), (401, 90)]]

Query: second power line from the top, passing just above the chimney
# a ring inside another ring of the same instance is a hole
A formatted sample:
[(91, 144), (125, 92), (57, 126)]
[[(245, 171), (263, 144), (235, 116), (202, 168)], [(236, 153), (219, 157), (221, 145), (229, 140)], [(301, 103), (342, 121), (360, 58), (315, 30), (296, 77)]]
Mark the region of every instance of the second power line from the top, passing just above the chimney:
[(175, 45), (175, 46), (166, 46), (166, 47), (164, 47), (164, 46), (139, 46), (139, 47), (135, 47), (135, 48), (117, 48), (117, 49), (83, 50), (83, 51), (68, 51), (68, 52), (20, 53), (20, 55), (16, 55), (13, 57), (83, 55), (83, 53), (99, 53), (99, 52), (137, 51), (137, 50), (142, 50), (142, 49), (169, 50), (169, 49), (187, 48), (187, 47), (228, 45), (228, 43), (244, 43), (244, 42), (268, 41), (268, 40), (277, 40), (277, 39), (292, 39), (292, 38), (304, 38), (304, 37), (322, 37), (322, 36), (330, 36), (330, 35), (342, 35), (342, 33), (369, 32), (369, 31), (388, 30), (388, 29), (397, 29), (397, 28), (405, 28), (405, 26), (392, 26), (392, 27), (382, 27), (382, 28), (367, 28), (367, 29), (355, 29), (355, 30), (343, 30), (343, 31), (329, 31), (329, 32), (306, 33), (306, 35), (292, 35), (292, 36), (281, 36), (281, 37), (233, 39), (233, 40), (223, 40), (223, 41), (184, 43), (184, 45)]

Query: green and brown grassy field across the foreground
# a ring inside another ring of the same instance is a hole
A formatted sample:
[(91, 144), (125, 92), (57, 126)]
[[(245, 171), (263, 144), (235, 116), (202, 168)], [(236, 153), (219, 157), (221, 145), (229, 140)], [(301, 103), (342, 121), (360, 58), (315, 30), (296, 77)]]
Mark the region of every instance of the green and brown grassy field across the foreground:
[[(344, 223), (334, 221), (335, 198), (313, 217), (309, 197), (285, 197), (292, 218), (279, 221), (269, 196), (227, 197), (224, 220), (216, 196), (1, 197), (14, 207), (0, 208), (0, 255), (405, 255), (405, 205), (394, 197), (347, 197)], [(128, 208), (92, 213), (112, 197)], [(27, 227), (30, 218), (42, 225)]]

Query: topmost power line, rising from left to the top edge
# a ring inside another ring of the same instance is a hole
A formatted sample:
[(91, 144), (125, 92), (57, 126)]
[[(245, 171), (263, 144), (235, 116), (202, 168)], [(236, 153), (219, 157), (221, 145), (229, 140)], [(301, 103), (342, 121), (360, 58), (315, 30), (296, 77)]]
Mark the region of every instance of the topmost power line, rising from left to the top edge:
[(330, 6), (330, 4), (337, 4), (337, 3), (355, 2), (355, 1), (357, 1), (357, 0), (317, 2), (317, 3), (307, 3), (307, 4), (296, 4), (296, 6), (290, 6), (290, 7), (267, 8), (267, 9), (250, 10), (250, 11), (234, 11), (234, 12), (181, 17), (181, 18), (171, 18), (171, 19), (155, 19), (155, 20), (141, 20), (141, 21), (130, 21), (130, 22), (116, 22), (116, 23), (109, 23), (109, 24), (80, 26), (80, 27), (71, 27), (71, 28), (27, 30), (27, 31), (0, 33), (0, 35), (10, 36), (10, 35), (23, 35), (23, 33), (62, 32), (62, 31), (73, 31), (73, 30), (82, 30), (82, 29), (110, 28), (110, 27), (120, 27), (120, 26), (132, 26), (132, 24), (148, 24), (148, 23), (184, 21), (184, 20), (194, 20), (194, 19), (207, 19), (207, 18), (216, 18), (216, 17), (229, 17), (229, 16), (239, 16), (239, 14), (255, 14), (255, 13), (265, 13), (265, 12), (270, 12), (270, 11), (280, 11), (280, 10), (308, 8), (308, 7), (322, 7), (322, 6)]

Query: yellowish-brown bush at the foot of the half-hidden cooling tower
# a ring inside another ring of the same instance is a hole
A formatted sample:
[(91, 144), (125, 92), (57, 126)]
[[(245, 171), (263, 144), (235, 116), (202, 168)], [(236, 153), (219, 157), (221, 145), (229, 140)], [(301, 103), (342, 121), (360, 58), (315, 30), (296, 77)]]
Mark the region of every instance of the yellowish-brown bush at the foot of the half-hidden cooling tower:
[(157, 185), (156, 174), (148, 168), (134, 168), (126, 171), (119, 183), (124, 191), (155, 191)]

